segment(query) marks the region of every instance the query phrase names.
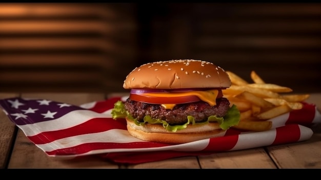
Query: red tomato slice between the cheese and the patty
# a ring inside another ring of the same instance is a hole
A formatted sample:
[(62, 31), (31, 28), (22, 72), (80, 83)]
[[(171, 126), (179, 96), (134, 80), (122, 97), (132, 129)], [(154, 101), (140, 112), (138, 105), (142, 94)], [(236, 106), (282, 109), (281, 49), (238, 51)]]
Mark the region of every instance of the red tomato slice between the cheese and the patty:
[(149, 103), (149, 104), (182, 104), (200, 101), (195, 95), (180, 96), (180, 97), (155, 97), (144, 94), (130, 94), (129, 98), (133, 101)]

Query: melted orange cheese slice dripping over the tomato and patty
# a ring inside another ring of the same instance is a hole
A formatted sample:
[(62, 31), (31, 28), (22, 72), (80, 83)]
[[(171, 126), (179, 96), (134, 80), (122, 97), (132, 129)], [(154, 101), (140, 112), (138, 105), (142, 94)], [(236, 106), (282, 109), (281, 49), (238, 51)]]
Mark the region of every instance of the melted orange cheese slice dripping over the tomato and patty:
[[(174, 92), (174, 93), (144, 93), (148, 96), (154, 97), (182, 97), (182, 96), (189, 96), (195, 95), (200, 98), (202, 101), (208, 103), (210, 106), (216, 105), (216, 97), (218, 95), (218, 90), (212, 89), (208, 91), (185, 91), (185, 92)], [(162, 104), (165, 109), (173, 109), (176, 104)]]

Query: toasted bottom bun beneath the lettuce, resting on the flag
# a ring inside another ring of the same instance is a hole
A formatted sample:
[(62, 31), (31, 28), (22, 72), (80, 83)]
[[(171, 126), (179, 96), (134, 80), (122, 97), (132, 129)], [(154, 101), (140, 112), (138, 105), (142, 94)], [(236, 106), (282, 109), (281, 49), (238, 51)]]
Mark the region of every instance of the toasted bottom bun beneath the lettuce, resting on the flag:
[(222, 137), (226, 133), (226, 130), (219, 128), (218, 123), (188, 125), (183, 130), (170, 132), (163, 125), (145, 124), (144, 126), (137, 126), (130, 119), (126, 118), (126, 121), (130, 135), (149, 142), (183, 144), (211, 137)]

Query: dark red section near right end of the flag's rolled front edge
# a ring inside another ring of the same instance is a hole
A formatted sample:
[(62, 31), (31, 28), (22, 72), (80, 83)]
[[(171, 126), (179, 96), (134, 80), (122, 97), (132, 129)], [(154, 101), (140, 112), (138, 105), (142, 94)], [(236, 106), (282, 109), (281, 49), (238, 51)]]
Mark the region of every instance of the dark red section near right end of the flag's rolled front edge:
[(276, 128), (276, 137), (272, 145), (297, 142), (300, 139), (300, 134), (298, 125), (286, 125)]

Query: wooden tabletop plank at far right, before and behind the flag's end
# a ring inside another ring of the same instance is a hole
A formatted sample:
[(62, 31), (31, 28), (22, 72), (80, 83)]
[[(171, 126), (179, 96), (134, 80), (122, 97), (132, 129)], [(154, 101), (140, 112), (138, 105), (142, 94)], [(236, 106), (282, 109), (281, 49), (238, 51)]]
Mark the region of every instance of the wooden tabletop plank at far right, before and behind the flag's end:
[[(321, 110), (321, 93), (311, 94), (308, 103)], [(321, 124), (313, 128), (314, 134), (304, 142), (268, 147), (278, 168), (321, 168)]]

